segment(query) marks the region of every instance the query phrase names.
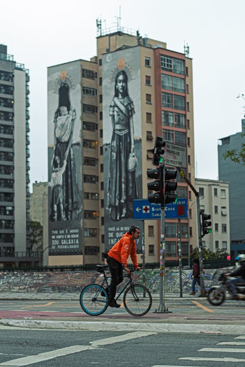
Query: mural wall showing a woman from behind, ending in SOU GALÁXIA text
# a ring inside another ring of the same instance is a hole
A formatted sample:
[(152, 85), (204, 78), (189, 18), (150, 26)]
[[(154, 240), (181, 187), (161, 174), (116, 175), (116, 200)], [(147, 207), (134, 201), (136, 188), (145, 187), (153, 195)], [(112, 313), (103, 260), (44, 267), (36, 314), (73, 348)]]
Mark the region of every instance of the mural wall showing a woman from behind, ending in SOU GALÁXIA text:
[(49, 255), (82, 253), (80, 73), (48, 69)]

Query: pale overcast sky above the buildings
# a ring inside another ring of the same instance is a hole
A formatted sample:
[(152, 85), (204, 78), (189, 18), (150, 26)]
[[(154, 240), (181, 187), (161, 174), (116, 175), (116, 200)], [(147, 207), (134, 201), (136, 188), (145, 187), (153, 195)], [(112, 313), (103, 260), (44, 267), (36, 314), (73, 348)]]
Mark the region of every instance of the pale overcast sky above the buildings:
[[(30, 73), (30, 189), (47, 181), (47, 67), (96, 55), (102, 27), (139, 29), (193, 58), (196, 177), (218, 179), (218, 139), (241, 131), (245, 0), (0, 1), (0, 43)], [(105, 21), (105, 22), (104, 22)]]

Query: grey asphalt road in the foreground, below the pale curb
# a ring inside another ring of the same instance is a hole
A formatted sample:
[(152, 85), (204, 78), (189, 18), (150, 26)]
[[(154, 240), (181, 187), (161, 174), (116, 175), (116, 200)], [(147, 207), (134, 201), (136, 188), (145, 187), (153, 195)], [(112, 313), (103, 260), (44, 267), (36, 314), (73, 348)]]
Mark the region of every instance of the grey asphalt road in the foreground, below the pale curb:
[(24, 330), (0, 326), (0, 366), (236, 367), (245, 336)]

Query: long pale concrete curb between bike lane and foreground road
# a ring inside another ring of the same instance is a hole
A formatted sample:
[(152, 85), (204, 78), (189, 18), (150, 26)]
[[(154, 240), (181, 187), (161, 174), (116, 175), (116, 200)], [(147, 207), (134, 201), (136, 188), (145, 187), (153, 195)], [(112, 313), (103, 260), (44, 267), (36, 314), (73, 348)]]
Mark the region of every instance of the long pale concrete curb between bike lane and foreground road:
[(49, 330), (155, 331), (157, 333), (245, 334), (245, 325), (1, 319), (1, 325)]

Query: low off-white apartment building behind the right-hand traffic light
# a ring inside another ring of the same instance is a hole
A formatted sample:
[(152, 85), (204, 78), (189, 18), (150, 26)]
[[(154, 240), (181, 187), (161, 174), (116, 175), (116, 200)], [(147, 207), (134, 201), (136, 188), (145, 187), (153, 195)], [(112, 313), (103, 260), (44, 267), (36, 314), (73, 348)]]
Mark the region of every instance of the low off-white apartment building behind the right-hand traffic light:
[[(203, 247), (212, 252), (225, 250), (230, 253), (229, 183), (203, 179), (195, 181), (196, 191), (199, 191), (200, 197), (200, 212), (210, 214), (212, 223), (212, 233), (206, 234), (202, 239)], [(190, 219), (191, 237), (194, 237), (192, 228), (196, 225), (196, 218), (192, 216)], [(197, 237), (196, 244), (198, 244)]]

